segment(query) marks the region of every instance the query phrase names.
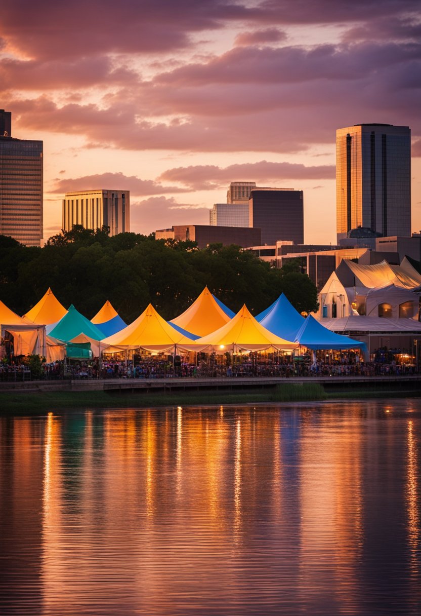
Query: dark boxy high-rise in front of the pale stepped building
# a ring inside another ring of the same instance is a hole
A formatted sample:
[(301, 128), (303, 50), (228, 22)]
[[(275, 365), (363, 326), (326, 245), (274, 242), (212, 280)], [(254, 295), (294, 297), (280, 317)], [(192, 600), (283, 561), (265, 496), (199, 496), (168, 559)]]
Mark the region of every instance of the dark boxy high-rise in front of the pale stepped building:
[(262, 245), (277, 240), (304, 242), (303, 191), (257, 188), (249, 199), (249, 226), (262, 229)]

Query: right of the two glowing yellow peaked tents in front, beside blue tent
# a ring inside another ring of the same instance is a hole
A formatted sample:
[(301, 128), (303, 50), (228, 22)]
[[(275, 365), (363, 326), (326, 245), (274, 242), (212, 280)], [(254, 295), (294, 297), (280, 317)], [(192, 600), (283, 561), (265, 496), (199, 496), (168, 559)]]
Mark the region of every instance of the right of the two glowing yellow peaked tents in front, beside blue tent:
[(205, 351), (207, 348), (219, 352), (265, 351), (270, 348), (292, 350), (297, 346), (295, 342), (284, 340), (260, 325), (245, 304), (230, 322), (196, 340), (198, 351)]

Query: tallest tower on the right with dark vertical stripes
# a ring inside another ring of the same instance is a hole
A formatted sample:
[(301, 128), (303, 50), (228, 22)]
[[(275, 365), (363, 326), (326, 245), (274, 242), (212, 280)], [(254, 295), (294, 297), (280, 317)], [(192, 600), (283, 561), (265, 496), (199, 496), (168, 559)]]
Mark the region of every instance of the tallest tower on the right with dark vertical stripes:
[(338, 241), (369, 227), (384, 236), (411, 235), (411, 130), (355, 124), (336, 131)]

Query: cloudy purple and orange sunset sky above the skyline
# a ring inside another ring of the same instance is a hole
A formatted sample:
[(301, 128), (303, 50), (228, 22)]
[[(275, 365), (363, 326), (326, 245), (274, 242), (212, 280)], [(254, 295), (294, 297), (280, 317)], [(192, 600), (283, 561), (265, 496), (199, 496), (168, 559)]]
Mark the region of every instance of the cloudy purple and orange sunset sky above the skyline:
[(132, 230), (208, 224), (228, 184), (304, 190), (335, 242), (335, 130), (412, 129), (421, 229), (419, 0), (2, 0), (0, 107), (44, 140), (44, 238), (68, 190), (130, 190)]

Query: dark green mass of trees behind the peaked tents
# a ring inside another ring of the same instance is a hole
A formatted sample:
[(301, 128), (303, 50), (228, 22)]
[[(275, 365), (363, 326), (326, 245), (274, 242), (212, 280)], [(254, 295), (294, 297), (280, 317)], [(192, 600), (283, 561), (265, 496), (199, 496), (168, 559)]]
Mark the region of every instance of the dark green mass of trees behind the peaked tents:
[(317, 291), (294, 262), (282, 269), (239, 246), (156, 241), (153, 235), (73, 227), (44, 248), (27, 248), (0, 235), (0, 299), (22, 315), (50, 286), (68, 308), (88, 318), (109, 299), (130, 323), (149, 302), (166, 319), (185, 310), (204, 286), (235, 312), (245, 303), (253, 314), (284, 292), (302, 312), (315, 310)]

